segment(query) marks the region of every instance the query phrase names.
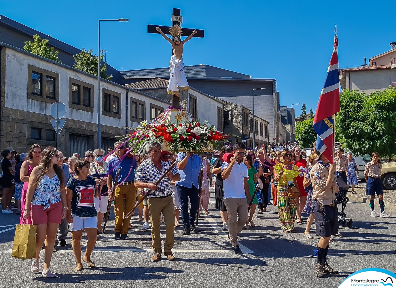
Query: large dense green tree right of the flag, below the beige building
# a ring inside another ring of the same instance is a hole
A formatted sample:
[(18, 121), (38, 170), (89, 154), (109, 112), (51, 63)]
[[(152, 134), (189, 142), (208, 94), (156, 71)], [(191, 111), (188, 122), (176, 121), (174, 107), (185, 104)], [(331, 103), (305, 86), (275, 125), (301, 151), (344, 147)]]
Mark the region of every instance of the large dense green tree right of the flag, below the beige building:
[(396, 88), (370, 95), (344, 90), (335, 131), (343, 146), (360, 155), (396, 153)]

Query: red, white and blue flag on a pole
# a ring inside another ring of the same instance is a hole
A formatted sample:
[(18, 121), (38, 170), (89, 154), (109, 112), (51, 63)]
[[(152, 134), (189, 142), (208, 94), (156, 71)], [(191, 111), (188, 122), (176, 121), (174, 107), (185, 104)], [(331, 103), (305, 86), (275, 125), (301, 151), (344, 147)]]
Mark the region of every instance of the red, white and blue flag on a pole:
[(320, 93), (318, 107), (314, 118), (314, 130), (318, 134), (316, 149), (333, 164), (334, 155), (334, 114), (340, 111), (340, 90), (338, 74), (338, 39), (334, 38), (333, 55), (331, 55), (326, 80)]

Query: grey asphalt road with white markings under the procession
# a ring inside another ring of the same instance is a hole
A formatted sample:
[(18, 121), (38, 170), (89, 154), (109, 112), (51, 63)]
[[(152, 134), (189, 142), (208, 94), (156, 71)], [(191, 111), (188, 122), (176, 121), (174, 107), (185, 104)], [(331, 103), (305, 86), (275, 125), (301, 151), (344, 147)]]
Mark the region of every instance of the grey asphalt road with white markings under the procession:
[[(213, 209), (213, 202), (211, 198), (209, 208)], [(240, 244), (247, 253), (242, 256), (230, 251), (227, 235), (218, 224), (221, 218), (214, 210), (200, 218), (198, 233), (183, 236), (182, 227), (176, 228), (175, 262), (164, 258), (152, 262), (150, 231), (135, 228), (130, 230), (128, 241), (114, 240), (112, 234), (98, 237), (91, 257), (97, 267), (85, 265), (82, 271), (74, 272), (69, 234), (67, 246), (53, 254), (51, 271), (58, 277), (52, 279), (31, 273), (31, 260), (11, 257), (13, 225), (19, 216), (1, 214), (0, 287), (337, 287), (360, 269), (379, 267), (396, 271), (394, 211), (388, 210), (391, 217), (387, 219), (371, 218), (368, 204), (349, 203), (346, 214), (354, 220), (354, 227), (341, 226), (343, 238), (333, 238), (329, 249), (328, 263), (340, 274), (320, 279), (314, 276), (316, 257), (313, 254), (319, 240), (314, 236), (314, 225), (313, 240), (303, 237), (305, 225), (296, 225), (296, 233), (284, 235), (276, 207), (270, 206), (267, 210), (269, 212), (255, 219), (255, 228), (243, 230)], [(133, 225), (140, 227), (143, 222), (136, 219), (137, 216), (133, 216)], [(109, 228), (113, 225), (114, 220), (110, 221)], [(165, 232), (165, 224), (161, 230)], [(82, 243), (86, 243), (85, 235)], [(44, 264), (43, 251), (41, 257), (40, 267)]]

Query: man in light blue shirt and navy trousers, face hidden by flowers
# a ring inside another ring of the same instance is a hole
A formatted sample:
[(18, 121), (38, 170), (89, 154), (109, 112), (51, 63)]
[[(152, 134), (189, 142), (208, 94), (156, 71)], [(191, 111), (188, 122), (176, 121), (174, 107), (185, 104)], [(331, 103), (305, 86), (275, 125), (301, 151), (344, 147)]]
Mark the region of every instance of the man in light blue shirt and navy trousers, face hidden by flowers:
[[(184, 224), (183, 235), (190, 234), (190, 229), (197, 232), (194, 219), (199, 208), (200, 173), (202, 170), (202, 158), (194, 153), (180, 152), (177, 154), (177, 169), (180, 173), (180, 181), (176, 181), (176, 189), (180, 198), (181, 219)], [(190, 198), (190, 214), (188, 214), (188, 198)]]

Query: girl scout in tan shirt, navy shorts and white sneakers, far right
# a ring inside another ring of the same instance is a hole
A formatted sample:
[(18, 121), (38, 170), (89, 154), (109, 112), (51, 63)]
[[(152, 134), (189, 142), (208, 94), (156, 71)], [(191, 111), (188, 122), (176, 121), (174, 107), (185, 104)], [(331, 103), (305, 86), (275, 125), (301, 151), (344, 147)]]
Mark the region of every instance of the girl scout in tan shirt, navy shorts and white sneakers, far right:
[(372, 161), (366, 164), (364, 169), (364, 177), (367, 181), (366, 195), (370, 195), (370, 206), (371, 206), (371, 217), (377, 217), (374, 211), (374, 199), (375, 193), (377, 193), (379, 198), (379, 207), (381, 208), (381, 214), (379, 217), (388, 218), (389, 215), (384, 211), (384, 197), (382, 192), (382, 182), (381, 182), (381, 169), (382, 164), (379, 160), (379, 153), (373, 152), (371, 154)]

